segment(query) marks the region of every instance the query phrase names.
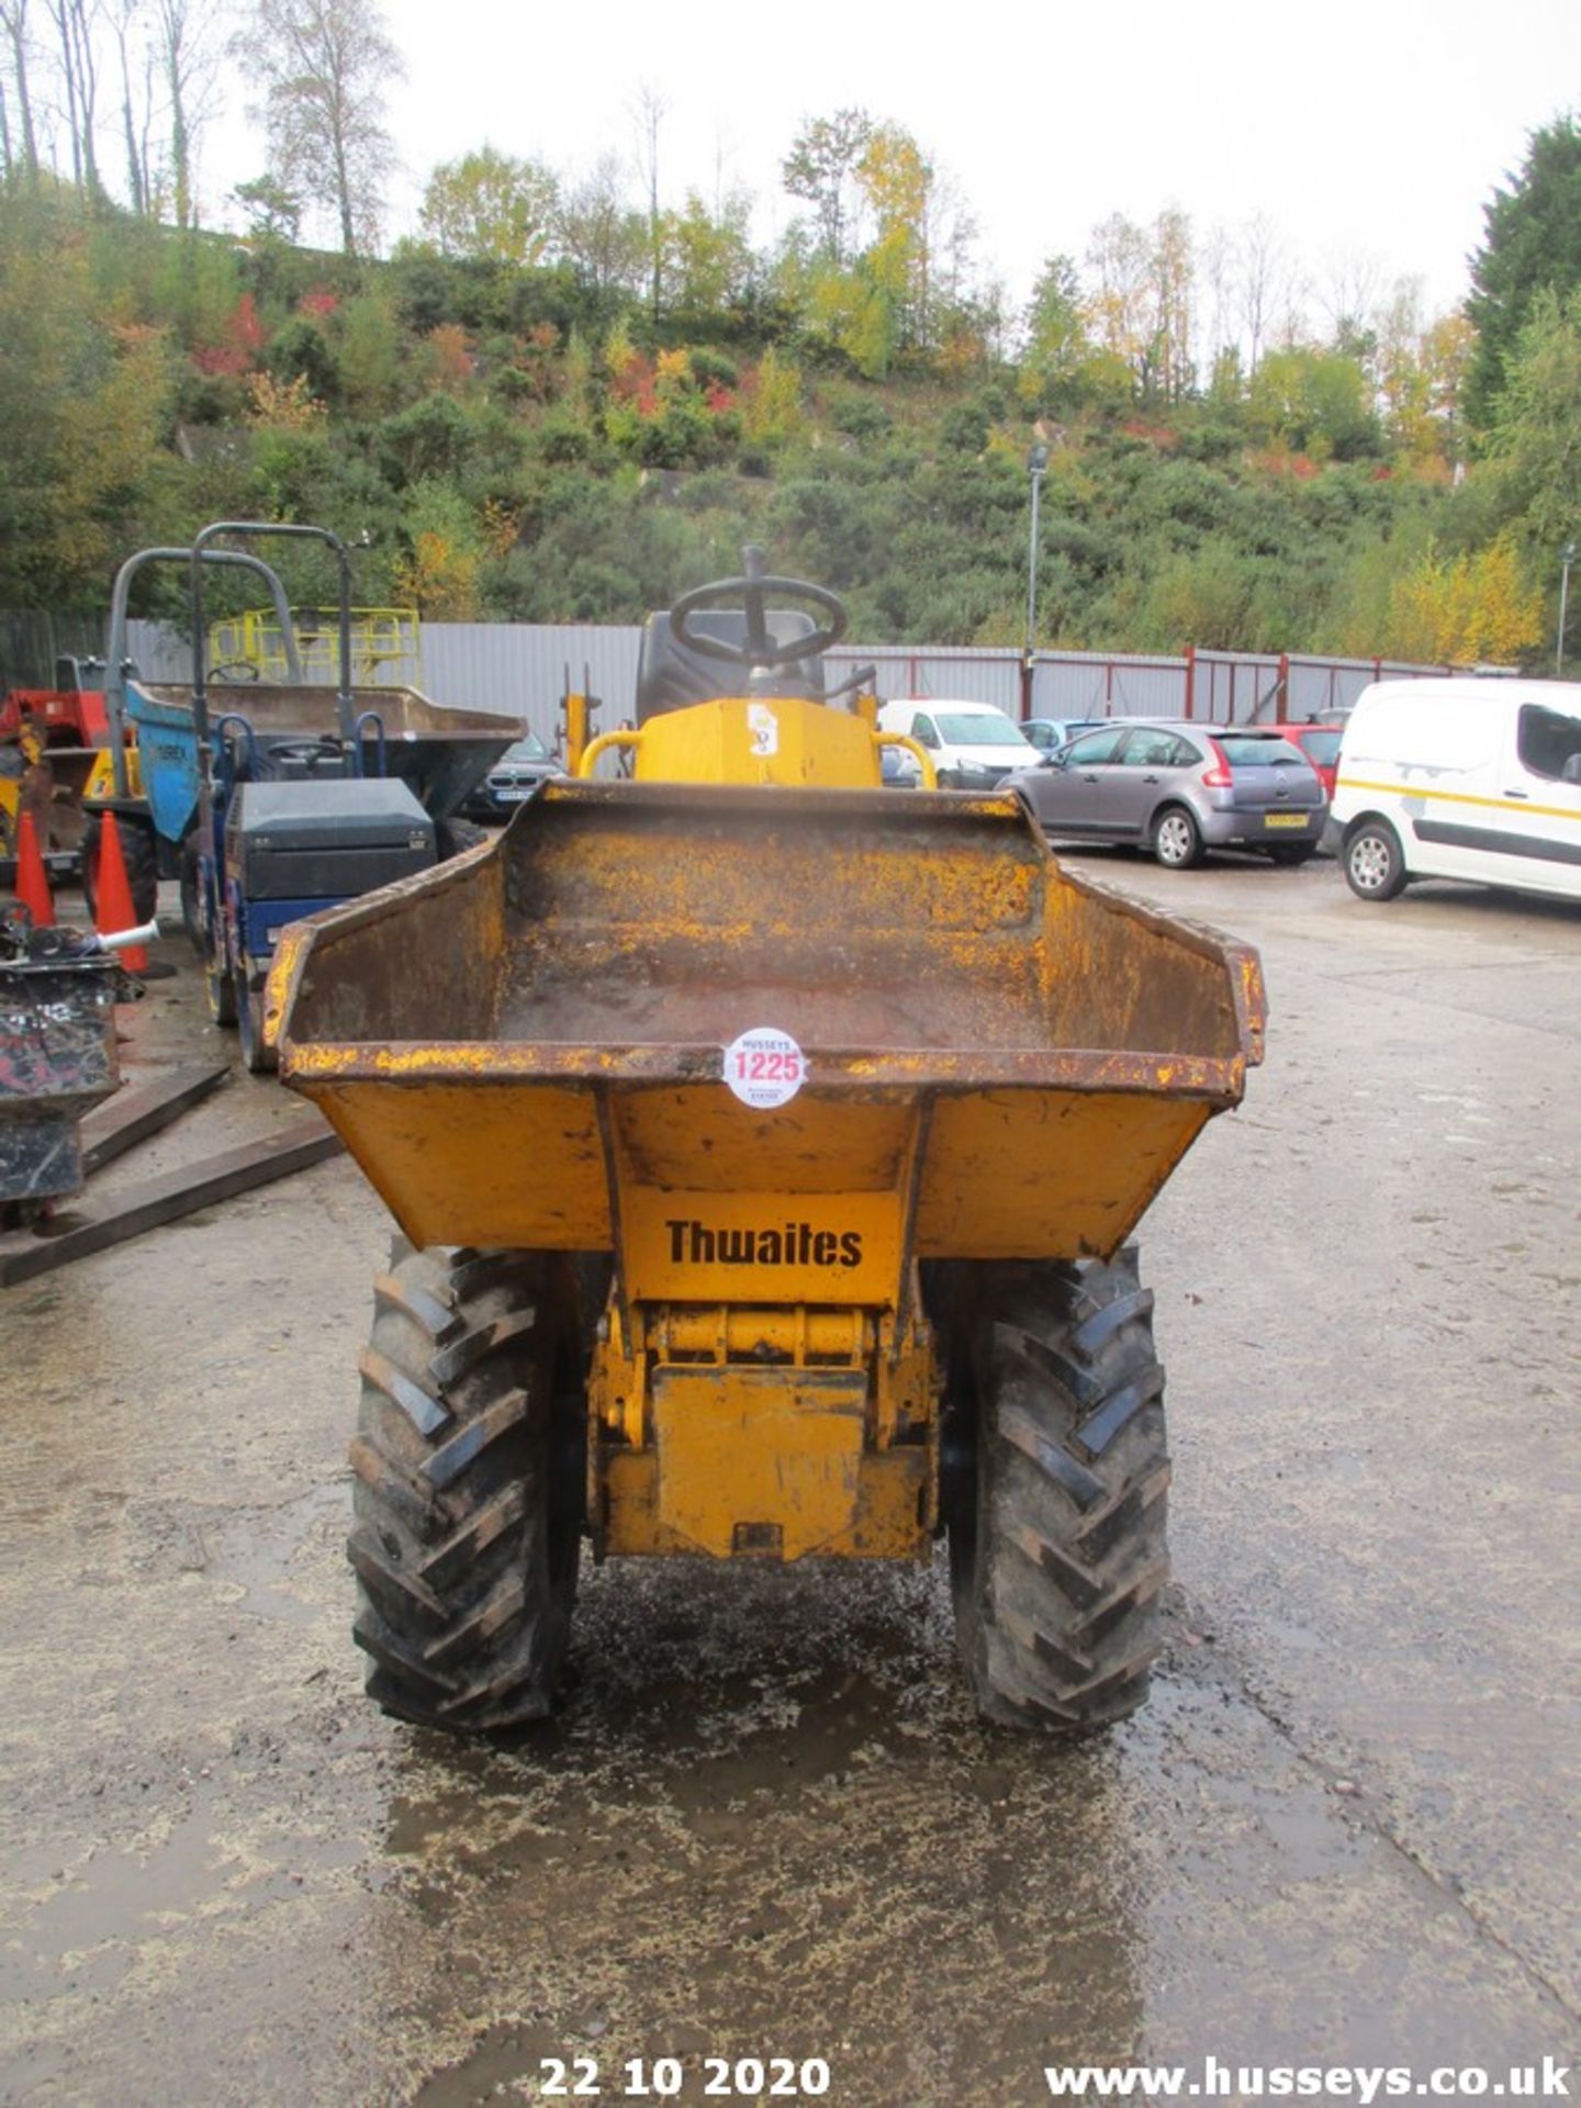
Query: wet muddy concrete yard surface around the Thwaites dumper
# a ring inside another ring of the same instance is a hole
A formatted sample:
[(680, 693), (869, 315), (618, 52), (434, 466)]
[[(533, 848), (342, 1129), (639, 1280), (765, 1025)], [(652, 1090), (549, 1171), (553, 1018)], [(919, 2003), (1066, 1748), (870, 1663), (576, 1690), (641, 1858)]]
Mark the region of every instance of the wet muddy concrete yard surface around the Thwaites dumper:
[[(586, 1573), (552, 1729), (384, 1720), (341, 1541), (386, 1221), (325, 1164), (0, 1290), (0, 2097), (1575, 2062), (1581, 911), (1086, 862), (1261, 944), (1273, 1008), (1143, 1227), (1151, 1707), (1079, 1748), (976, 1724), (942, 1564), (675, 1564)], [(215, 1046), (186, 970), (129, 1031), (139, 1067)], [(238, 1075), (120, 1176), (285, 1117)]]

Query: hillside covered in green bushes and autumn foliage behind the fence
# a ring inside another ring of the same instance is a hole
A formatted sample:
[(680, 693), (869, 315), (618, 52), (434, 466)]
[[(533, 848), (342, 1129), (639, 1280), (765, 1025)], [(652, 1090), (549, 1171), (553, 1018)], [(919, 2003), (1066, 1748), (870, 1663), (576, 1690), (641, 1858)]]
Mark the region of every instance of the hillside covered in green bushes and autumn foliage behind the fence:
[(1551, 635), (1459, 413), (1467, 325), (1199, 386), (1073, 312), (1046, 297), (1014, 346), (961, 312), (873, 373), (784, 282), (656, 323), (563, 264), (171, 234), (11, 181), (0, 607), (101, 607), (131, 548), (272, 516), (335, 527), (363, 603), (430, 620), (628, 622), (759, 540), (873, 643), (1018, 645), (1037, 438), (1043, 645), (1473, 662)]

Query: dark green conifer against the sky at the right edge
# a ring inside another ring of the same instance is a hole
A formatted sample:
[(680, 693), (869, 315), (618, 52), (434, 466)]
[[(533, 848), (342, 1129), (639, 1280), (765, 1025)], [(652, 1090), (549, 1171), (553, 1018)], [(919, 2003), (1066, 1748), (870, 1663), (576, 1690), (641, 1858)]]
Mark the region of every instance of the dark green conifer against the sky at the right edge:
[(1478, 331), (1467, 411), (1486, 428), (1537, 299), (1581, 285), (1581, 126), (1573, 116), (1530, 135), (1524, 167), (1492, 194), (1484, 221), (1465, 308)]

